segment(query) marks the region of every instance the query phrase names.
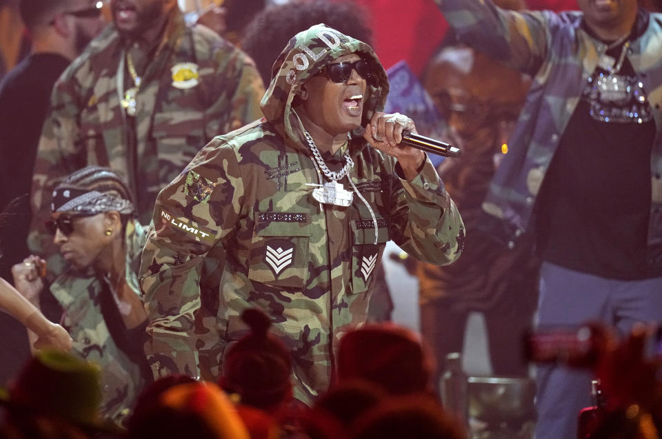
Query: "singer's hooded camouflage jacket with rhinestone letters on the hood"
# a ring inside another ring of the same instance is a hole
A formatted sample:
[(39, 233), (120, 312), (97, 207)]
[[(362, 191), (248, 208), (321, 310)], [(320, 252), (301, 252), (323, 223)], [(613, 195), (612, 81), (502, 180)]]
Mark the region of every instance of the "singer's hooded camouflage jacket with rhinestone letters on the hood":
[[(141, 287), (152, 341), (146, 349), (156, 376), (196, 373), (194, 312), (205, 256), (224, 249), (217, 324), (217, 360), (245, 334), (246, 307), (271, 316), (274, 334), (292, 353), (294, 396), (310, 403), (332, 380), (342, 334), (361, 325), (385, 243), (435, 264), (452, 263), (463, 247), (463, 223), (432, 163), (412, 181), (396, 174), (395, 160), (352, 133), (348, 173), (377, 216), (357, 196), (350, 207), (312, 198), (321, 183), (302, 125), (292, 108), (302, 83), (343, 54), (372, 59), (365, 118), (383, 108), (388, 79), (361, 41), (316, 25), (290, 40), (274, 63), (262, 99), (265, 118), (219, 136), (157, 198), (143, 250)], [(348, 186), (347, 178), (340, 183)]]

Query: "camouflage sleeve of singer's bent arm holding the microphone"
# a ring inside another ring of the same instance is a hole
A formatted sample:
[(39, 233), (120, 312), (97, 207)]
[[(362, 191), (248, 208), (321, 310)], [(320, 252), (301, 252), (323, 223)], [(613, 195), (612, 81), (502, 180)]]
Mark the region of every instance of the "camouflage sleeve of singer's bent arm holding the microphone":
[[(399, 165), (396, 173), (403, 175)], [(454, 262), (464, 247), (464, 223), (430, 159), (426, 157), (415, 178), (400, 178), (400, 183), (392, 194), (397, 200), (391, 215), (393, 241), (421, 261)]]

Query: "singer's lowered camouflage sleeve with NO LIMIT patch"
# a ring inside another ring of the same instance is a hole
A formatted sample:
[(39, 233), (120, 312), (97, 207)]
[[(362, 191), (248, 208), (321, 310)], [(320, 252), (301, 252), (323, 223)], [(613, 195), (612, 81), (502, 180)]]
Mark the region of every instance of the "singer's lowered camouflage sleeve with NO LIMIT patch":
[[(140, 268), (154, 378), (199, 375), (192, 336), (205, 256), (237, 223), (241, 185), (231, 147), (214, 139), (157, 197)], [(222, 218), (222, 223), (217, 221)], [(226, 226), (227, 225), (227, 226)]]

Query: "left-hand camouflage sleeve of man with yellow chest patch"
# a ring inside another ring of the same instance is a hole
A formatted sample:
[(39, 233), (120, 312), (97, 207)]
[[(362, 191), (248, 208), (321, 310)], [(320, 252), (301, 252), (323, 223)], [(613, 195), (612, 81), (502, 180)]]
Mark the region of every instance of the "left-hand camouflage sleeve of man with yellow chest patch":
[(44, 222), (50, 218), (51, 194), (62, 178), (82, 167), (84, 157), (79, 142), (79, 103), (72, 80), (59, 79), (50, 100), (50, 112), (44, 121), (37, 159), (32, 176), (32, 222), (28, 247), (30, 252), (45, 257), (51, 274), (60, 274), (64, 263), (57, 254), (52, 236)]

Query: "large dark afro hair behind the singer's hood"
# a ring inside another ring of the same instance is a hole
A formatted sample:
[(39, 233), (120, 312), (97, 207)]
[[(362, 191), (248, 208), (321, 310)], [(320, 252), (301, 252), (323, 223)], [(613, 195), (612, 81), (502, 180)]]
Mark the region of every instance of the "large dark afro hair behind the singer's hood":
[(372, 30), (357, 3), (294, 0), (269, 6), (257, 14), (246, 27), (241, 48), (255, 61), (262, 80), (268, 85), (274, 61), (292, 36), (319, 23), (372, 45)]

